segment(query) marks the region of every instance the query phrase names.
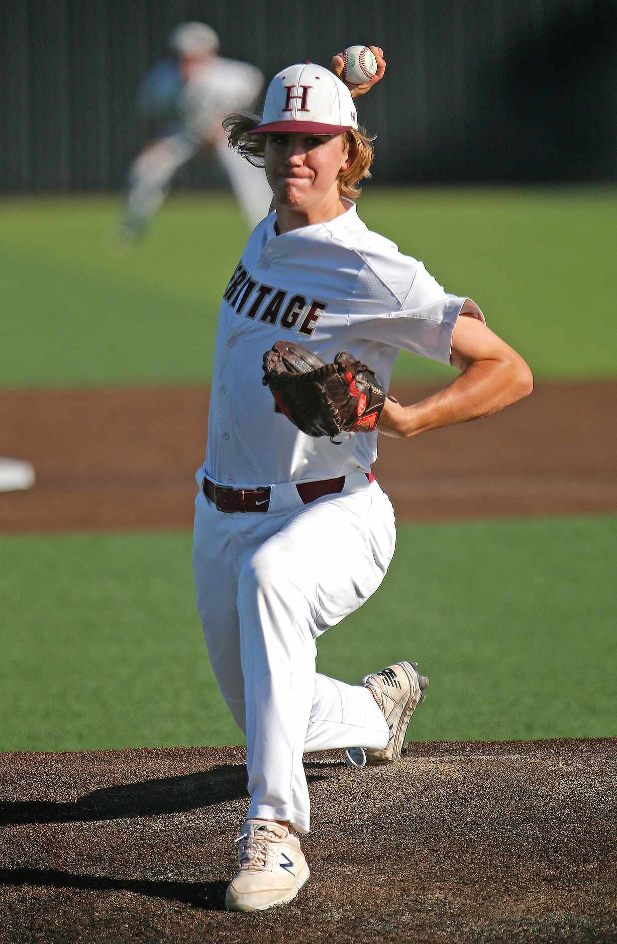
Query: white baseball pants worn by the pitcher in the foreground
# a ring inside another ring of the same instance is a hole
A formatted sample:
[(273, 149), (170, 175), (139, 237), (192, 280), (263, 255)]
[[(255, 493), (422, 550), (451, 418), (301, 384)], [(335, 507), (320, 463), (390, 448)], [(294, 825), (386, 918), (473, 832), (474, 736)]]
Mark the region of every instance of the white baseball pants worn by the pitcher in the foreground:
[(392, 504), (363, 472), (308, 505), (292, 483), (275, 485), (266, 514), (225, 514), (196, 497), (197, 609), (221, 693), (246, 734), (249, 818), (308, 833), (303, 753), (388, 743), (367, 688), (316, 672), (315, 640), (375, 592), (394, 541)]

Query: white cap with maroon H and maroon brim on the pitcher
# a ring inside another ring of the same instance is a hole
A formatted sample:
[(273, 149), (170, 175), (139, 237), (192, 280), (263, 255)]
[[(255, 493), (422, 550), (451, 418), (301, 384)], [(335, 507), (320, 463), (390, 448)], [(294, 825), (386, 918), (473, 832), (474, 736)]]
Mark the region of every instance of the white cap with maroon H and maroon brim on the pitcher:
[(282, 69), (268, 86), (263, 116), (250, 134), (341, 134), (358, 127), (351, 92), (321, 65), (302, 62)]

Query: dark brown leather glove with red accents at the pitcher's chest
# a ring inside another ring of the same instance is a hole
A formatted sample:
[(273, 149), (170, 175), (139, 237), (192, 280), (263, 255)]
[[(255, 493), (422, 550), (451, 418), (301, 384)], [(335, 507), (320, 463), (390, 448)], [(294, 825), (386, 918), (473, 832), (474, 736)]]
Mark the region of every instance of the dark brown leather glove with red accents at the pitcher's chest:
[(306, 347), (277, 341), (263, 355), (263, 383), (308, 436), (375, 430), (386, 400), (370, 367), (347, 351), (324, 363)]

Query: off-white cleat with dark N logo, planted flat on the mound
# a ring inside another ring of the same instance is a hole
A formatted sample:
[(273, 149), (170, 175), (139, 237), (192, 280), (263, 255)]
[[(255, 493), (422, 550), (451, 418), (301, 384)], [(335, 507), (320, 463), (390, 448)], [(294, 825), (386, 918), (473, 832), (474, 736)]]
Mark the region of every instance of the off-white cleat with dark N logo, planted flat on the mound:
[(227, 885), (225, 908), (265, 911), (286, 904), (308, 882), (300, 840), (280, 823), (247, 819), (238, 845), (240, 868)]

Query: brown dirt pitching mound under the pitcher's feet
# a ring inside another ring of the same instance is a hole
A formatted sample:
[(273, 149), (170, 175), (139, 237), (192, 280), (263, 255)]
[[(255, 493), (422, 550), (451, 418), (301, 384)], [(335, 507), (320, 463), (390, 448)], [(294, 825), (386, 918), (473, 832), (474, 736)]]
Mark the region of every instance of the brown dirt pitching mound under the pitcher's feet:
[(0, 941), (617, 940), (617, 739), (306, 758), (311, 878), (223, 910), (240, 748), (0, 755)]

